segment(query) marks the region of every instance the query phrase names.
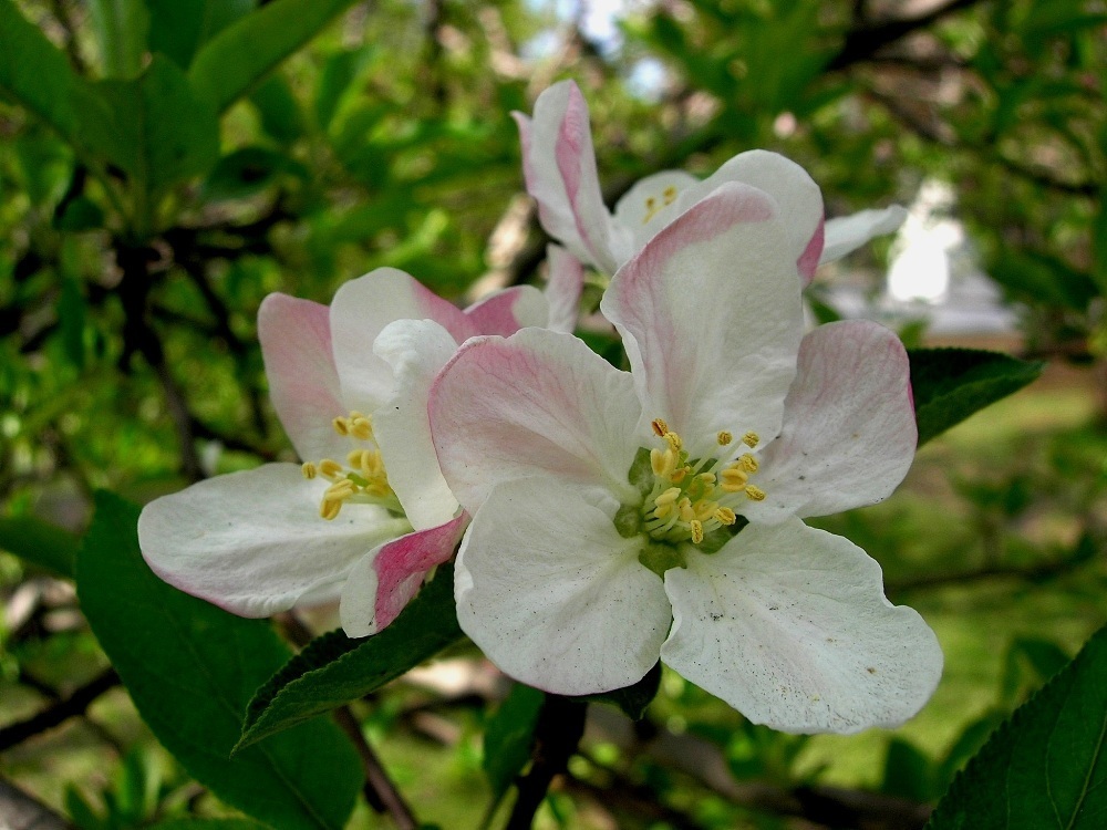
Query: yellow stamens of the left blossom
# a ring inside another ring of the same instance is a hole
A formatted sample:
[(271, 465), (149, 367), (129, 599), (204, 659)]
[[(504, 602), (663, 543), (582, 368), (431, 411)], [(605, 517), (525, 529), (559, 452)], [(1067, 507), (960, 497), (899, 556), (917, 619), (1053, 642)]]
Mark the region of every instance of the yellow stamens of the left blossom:
[(403, 515), (400, 499), (389, 485), (381, 450), (376, 449), (373, 440), (373, 424), (369, 416), (351, 412), (345, 417), (334, 418), (331, 424), (334, 432), (353, 442), (354, 448), (346, 455), (345, 465), (323, 458), (318, 463), (306, 461), (301, 467), (304, 478), (319, 476), (331, 483), (319, 502), (319, 515), (330, 521), (338, 517), (342, 505), (348, 501), (380, 505)]

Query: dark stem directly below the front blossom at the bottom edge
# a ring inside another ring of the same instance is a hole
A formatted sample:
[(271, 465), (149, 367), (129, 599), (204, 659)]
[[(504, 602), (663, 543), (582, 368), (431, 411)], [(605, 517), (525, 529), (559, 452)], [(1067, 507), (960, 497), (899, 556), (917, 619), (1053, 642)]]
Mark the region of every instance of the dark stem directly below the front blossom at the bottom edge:
[(529, 830), (554, 778), (563, 772), (584, 735), (588, 704), (560, 695), (546, 695), (535, 727), (534, 764), (519, 780), (519, 797), (505, 830)]

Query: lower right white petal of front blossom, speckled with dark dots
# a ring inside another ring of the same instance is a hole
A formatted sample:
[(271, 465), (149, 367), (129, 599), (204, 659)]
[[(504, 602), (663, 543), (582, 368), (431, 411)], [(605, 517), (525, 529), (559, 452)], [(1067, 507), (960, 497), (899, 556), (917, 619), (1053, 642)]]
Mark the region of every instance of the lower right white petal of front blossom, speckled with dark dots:
[(661, 658), (756, 724), (788, 733), (894, 727), (942, 674), (934, 633), (884, 599), (880, 566), (848, 539), (751, 525), (665, 573), (674, 623)]

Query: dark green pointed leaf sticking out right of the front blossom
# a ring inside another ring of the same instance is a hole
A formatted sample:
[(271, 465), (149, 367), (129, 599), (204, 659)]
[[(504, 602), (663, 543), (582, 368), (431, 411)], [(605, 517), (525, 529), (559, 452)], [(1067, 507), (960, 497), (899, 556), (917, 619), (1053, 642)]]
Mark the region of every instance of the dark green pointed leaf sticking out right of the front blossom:
[(908, 354), (919, 446), (1017, 392), (1045, 369), (1045, 363), (975, 349), (914, 349)]

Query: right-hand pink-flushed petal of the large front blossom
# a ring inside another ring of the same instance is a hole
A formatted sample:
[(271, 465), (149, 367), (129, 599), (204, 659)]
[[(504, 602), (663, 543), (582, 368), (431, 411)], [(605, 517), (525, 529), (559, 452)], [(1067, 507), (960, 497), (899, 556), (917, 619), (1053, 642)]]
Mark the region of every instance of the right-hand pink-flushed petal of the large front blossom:
[(910, 371), (899, 338), (877, 323), (830, 323), (804, 338), (780, 436), (755, 477), (767, 496), (742, 513), (774, 522), (890, 496), (918, 439)]

